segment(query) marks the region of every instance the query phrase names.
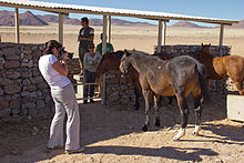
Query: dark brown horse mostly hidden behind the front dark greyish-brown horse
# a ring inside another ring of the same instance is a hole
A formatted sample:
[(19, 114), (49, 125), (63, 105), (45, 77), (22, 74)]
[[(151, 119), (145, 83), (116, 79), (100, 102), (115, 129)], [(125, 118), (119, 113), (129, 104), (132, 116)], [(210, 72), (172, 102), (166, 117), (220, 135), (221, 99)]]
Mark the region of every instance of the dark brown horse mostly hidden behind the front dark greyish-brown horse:
[[(102, 60), (99, 63), (99, 67), (96, 69), (96, 75), (101, 77), (102, 74), (104, 74), (108, 71), (111, 70), (120, 70), (120, 62), (121, 62), (121, 58), (123, 57), (124, 52), (123, 51), (116, 51), (116, 52), (108, 52), (105, 54), (102, 55)], [(169, 60), (172, 59), (173, 55), (166, 53), (166, 52), (161, 52), (161, 53), (156, 53), (153, 54), (155, 57), (160, 57), (162, 60)], [(134, 85), (134, 93), (135, 93), (135, 104), (133, 105), (134, 110), (139, 110), (140, 108), (140, 102), (139, 99), (141, 96), (141, 85), (139, 82), (139, 73), (138, 71), (131, 67), (129, 72), (128, 72), (132, 84)], [(169, 104), (172, 104), (173, 99), (169, 98)]]

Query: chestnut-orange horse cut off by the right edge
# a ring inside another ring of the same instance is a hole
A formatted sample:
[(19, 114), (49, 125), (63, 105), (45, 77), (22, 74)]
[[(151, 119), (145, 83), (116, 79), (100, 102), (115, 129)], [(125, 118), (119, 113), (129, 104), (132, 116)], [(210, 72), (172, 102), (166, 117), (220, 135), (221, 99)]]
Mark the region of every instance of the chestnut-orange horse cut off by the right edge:
[(244, 95), (244, 58), (227, 55), (214, 58), (210, 51), (211, 44), (203, 44), (200, 53), (200, 62), (205, 65), (206, 79), (222, 80), (230, 77), (235, 83), (241, 95)]

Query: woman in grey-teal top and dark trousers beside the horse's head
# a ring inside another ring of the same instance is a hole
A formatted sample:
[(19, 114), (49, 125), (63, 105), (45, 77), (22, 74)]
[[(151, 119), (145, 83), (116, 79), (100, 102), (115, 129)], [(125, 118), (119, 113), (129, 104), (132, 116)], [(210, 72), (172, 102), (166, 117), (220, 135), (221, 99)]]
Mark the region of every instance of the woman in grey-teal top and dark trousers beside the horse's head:
[[(84, 54), (84, 83), (94, 83), (95, 82), (95, 71), (99, 65), (99, 62), (101, 61), (102, 57), (94, 52), (94, 43), (89, 44), (89, 52)], [(94, 95), (94, 84), (87, 85), (84, 84), (83, 89), (83, 103), (88, 103), (88, 93), (90, 98), (93, 98)], [(92, 99), (90, 99), (90, 102), (94, 102)]]

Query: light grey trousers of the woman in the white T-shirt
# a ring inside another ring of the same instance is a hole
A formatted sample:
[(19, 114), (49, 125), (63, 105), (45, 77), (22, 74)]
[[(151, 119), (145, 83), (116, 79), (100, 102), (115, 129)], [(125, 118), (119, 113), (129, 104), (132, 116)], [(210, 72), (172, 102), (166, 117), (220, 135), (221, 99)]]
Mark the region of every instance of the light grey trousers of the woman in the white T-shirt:
[(80, 149), (80, 114), (73, 85), (70, 83), (62, 89), (51, 89), (51, 94), (55, 104), (55, 114), (47, 146), (63, 146), (63, 121), (67, 112), (65, 150)]

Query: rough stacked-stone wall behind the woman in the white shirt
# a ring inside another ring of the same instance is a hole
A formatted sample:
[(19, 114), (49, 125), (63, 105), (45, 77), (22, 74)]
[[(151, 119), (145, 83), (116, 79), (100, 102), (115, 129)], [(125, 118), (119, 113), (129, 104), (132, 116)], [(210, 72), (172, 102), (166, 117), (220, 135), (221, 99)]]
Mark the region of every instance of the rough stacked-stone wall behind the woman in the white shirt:
[[(50, 88), (42, 78), (38, 60), (43, 44), (0, 43), (0, 115), (39, 114), (52, 112)], [(69, 78), (80, 72), (78, 59), (68, 61)]]

